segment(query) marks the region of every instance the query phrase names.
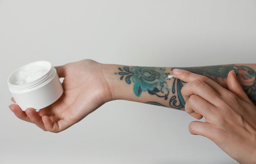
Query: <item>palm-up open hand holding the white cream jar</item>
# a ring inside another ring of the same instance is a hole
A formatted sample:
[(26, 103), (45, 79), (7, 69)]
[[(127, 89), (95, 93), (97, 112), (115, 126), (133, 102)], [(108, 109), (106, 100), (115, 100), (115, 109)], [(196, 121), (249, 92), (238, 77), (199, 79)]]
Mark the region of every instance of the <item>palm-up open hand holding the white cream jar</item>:
[[(113, 100), (101, 63), (85, 59), (55, 68), (59, 77), (64, 77), (61, 97), (39, 112), (33, 108), (27, 108), (24, 112), (18, 105), (11, 104), (9, 108), (18, 118), (57, 133)], [(15, 102), (13, 98), (12, 101)]]

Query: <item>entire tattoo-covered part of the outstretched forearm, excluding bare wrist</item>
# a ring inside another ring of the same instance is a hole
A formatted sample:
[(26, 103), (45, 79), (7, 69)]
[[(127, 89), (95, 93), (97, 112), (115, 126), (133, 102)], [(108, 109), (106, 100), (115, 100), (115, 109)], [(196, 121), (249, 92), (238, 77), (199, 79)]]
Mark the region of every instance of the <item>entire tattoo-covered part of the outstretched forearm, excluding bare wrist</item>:
[[(234, 70), (238, 81), (249, 98), (256, 102), (255, 71), (248, 66), (218, 65), (177, 68), (205, 75), (225, 88), (227, 88), (227, 74)], [(120, 80), (132, 85), (133, 93), (137, 97), (140, 97), (143, 92), (147, 92), (149, 95), (161, 98), (159, 102), (153, 99), (153, 101), (145, 102), (146, 104), (184, 110), (185, 101), (181, 95), (181, 88), (185, 85), (185, 82), (176, 78), (165, 79), (173, 69), (174, 67), (124, 66), (118, 67), (118, 73), (115, 72), (114, 74), (120, 75)]]

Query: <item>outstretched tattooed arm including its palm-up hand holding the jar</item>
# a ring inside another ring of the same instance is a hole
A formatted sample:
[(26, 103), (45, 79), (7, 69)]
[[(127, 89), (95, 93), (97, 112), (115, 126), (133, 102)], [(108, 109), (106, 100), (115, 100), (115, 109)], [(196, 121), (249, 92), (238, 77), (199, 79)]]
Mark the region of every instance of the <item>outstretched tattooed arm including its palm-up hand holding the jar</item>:
[[(135, 67), (102, 64), (85, 59), (56, 66), (59, 77), (64, 77), (63, 95), (53, 104), (35, 112), (22, 111), (17, 104), (9, 108), (20, 119), (34, 123), (50, 132), (61, 132), (82, 120), (101, 105), (115, 99), (184, 109), (180, 79), (165, 79), (173, 74), (172, 67)], [(183, 68), (204, 74), (226, 87), (227, 73), (235, 70), (246, 93), (255, 102), (254, 64)], [(246, 97), (246, 96), (244, 96)], [(12, 98), (12, 101), (15, 100)]]

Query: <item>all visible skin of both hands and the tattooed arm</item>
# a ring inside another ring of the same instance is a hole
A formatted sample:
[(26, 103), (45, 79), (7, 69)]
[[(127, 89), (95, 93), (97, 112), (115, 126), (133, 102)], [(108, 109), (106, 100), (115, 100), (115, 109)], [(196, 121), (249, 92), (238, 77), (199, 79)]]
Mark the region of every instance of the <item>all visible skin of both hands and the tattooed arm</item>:
[[(197, 119), (205, 117), (206, 122), (189, 124), (191, 134), (209, 138), (240, 163), (256, 163), (253, 64), (188, 67), (184, 69), (191, 72), (183, 70), (181, 74), (174, 73), (172, 67), (110, 65), (90, 59), (55, 68), (59, 77), (64, 77), (63, 95), (39, 112), (33, 108), (24, 112), (11, 104), (9, 108), (18, 118), (58, 133), (108, 101), (159, 105), (185, 110)], [(166, 79), (173, 73), (177, 78)]]

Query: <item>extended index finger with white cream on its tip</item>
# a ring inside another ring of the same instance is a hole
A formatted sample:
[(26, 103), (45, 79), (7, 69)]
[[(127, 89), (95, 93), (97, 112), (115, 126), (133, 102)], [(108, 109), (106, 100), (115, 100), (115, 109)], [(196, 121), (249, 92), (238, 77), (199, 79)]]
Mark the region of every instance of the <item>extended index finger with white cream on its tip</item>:
[(212, 79), (199, 75), (199, 74), (194, 74), (186, 70), (180, 70), (180, 69), (173, 69), (173, 74), (180, 80), (184, 82), (192, 82), (195, 81), (196, 79), (199, 79), (203, 82), (205, 82), (208, 86), (210, 86), (212, 89), (214, 89), (219, 95), (223, 91), (226, 91), (225, 88), (221, 87), (218, 83), (214, 82)]

